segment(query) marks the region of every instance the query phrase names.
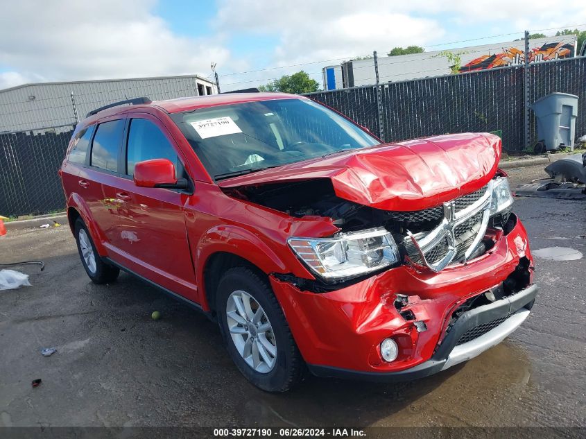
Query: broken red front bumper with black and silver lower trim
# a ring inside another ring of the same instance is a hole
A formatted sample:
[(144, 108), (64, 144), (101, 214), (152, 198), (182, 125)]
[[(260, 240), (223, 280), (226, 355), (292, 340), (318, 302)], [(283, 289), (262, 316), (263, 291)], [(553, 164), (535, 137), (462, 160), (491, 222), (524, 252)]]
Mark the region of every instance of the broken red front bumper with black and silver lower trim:
[[(531, 309), (537, 293), (531, 281), (515, 295), (463, 313), (446, 331), (460, 305), (502, 284), (523, 258), (533, 266), (526, 231), (515, 218), (515, 226), (485, 255), (440, 273), (399, 266), (328, 293), (301, 291), (274, 276), (270, 282), (313, 373), (411, 379), (472, 358), (520, 325), (527, 316), (523, 309)], [(401, 311), (411, 311), (414, 320), (407, 320), (395, 308), (397, 294), (408, 295), (408, 307)], [(501, 319), (497, 328), (472, 344), (457, 345), (460, 332), (495, 319)], [(426, 330), (418, 331), (415, 321), (424, 322)], [(382, 361), (379, 352), (381, 341), (389, 336), (399, 345), (399, 356), (392, 363)]]

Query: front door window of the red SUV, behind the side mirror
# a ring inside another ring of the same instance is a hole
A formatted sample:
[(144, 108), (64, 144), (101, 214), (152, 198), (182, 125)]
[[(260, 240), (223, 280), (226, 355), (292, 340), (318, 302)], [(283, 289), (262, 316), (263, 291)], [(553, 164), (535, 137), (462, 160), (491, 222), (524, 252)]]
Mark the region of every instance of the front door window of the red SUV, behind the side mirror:
[(175, 165), (175, 173), (182, 178), (183, 166), (177, 153), (163, 132), (146, 119), (132, 119), (128, 132), (126, 173), (134, 175), (135, 164), (143, 160), (169, 159)]

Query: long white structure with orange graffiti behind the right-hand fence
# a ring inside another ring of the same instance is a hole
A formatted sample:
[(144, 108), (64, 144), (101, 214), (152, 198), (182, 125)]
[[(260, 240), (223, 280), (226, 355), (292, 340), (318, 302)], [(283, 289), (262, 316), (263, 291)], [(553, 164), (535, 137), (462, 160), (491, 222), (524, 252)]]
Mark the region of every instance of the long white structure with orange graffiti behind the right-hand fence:
[[(580, 49), (576, 48), (576, 35), (535, 38), (529, 40), (529, 47), (530, 62), (573, 58), (576, 56), (576, 51)], [(524, 52), (525, 41), (517, 40), (411, 55), (386, 56), (381, 53), (379, 54), (379, 80), (381, 83), (394, 83), (449, 75), (454, 73), (454, 57), (460, 58), (459, 73), (507, 67), (522, 64), (525, 59)], [(343, 62), (340, 66), (327, 66), (322, 69), (322, 73), (325, 90), (376, 83), (372, 58), (350, 60)]]

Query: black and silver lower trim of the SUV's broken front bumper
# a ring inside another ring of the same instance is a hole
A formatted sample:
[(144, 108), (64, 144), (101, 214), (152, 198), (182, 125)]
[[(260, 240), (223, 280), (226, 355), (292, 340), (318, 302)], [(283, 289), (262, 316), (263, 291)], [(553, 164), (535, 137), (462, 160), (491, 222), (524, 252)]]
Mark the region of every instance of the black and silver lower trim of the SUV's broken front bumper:
[[(406, 370), (396, 372), (363, 372), (343, 368), (332, 368), (323, 365), (308, 364), (309, 370), (318, 377), (337, 377), (366, 379), (368, 381), (407, 381), (433, 375), (451, 366), (473, 359), (490, 347), (498, 345), (509, 334), (515, 331), (529, 315), (533, 301), (537, 295), (537, 285), (533, 284), (509, 298), (504, 298), (464, 313), (452, 327), (449, 334), (438, 347), (430, 360)], [(494, 320), (508, 316), (500, 325), (458, 345), (460, 337), (470, 329), (487, 325)]]

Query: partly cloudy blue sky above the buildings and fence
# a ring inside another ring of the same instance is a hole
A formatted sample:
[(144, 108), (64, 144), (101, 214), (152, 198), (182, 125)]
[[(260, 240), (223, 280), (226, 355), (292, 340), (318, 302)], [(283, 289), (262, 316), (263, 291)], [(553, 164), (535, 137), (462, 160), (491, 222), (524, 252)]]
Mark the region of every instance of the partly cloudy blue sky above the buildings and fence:
[(211, 77), (212, 62), (223, 91), (301, 69), (321, 83), (322, 67), (374, 50), (506, 42), (526, 29), (586, 30), (585, 0), (0, 0), (0, 8), (0, 89)]

